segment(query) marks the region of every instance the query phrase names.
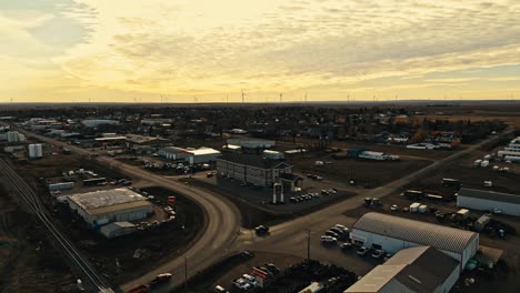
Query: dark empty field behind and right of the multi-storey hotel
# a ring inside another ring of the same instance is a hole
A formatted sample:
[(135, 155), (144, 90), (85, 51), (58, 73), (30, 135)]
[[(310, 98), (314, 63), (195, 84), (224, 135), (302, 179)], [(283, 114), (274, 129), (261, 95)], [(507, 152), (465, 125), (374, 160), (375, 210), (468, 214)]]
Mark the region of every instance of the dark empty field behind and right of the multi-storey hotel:
[[(316, 165), (316, 161), (329, 161), (330, 165)], [(331, 154), (308, 154), (306, 156), (293, 158), (290, 161), (294, 164), (297, 173), (312, 173), (329, 181), (348, 182), (353, 180), (357, 185), (376, 188), (391, 182), (427, 166), (429, 160), (403, 159), (401, 161), (369, 161), (369, 160), (334, 160)]]

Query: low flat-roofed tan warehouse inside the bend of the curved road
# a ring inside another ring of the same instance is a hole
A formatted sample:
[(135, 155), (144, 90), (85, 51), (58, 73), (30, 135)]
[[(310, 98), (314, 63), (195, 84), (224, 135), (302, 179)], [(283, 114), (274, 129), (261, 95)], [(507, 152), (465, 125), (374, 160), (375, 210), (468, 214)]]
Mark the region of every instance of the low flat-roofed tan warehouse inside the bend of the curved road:
[(147, 199), (129, 189), (101, 190), (68, 196), (69, 206), (92, 228), (146, 219), (153, 212)]

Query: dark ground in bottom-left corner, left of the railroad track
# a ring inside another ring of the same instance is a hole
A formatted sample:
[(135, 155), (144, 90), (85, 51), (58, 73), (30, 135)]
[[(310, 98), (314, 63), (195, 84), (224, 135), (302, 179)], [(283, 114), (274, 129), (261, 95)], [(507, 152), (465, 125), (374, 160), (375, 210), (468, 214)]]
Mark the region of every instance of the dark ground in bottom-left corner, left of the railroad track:
[(0, 292), (71, 292), (73, 273), (44, 229), (0, 186)]

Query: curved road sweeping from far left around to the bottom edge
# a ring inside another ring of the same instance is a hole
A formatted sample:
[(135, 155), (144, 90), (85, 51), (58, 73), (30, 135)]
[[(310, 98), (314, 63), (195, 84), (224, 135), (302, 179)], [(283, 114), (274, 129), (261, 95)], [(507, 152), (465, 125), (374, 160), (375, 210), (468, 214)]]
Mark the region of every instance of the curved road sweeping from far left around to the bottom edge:
[[(60, 148), (68, 148), (74, 153), (81, 155), (89, 155), (90, 152), (73, 145), (66, 144), (53, 139), (37, 135), (34, 133), (19, 129), (28, 137), (37, 138), (46, 143), (54, 144)], [(200, 238), (192, 243), (187, 251), (179, 256), (163, 265), (160, 265), (151, 272), (140, 276), (137, 280), (130, 281), (121, 289), (127, 291), (137, 285), (148, 283), (157, 274), (171, 272), (173, 274), (173, 282), (170, 287), (178, 285), (184, 280), (184, 257), (188, 259), (188, 275), (191, 276), (198, 271), (206, 269), (208, 265), (214, 263), (219, 257), (229, 253), (229, 247), (232, 246), (233, 241), (240, 231), (240, 212), (227, 199), (209, 192), (207, 190), (198, 189), (196, 186), (186, 185), (178, 181), (171, 181), (160, 175), (144, 171), (138, 166), (121, 163), (114, 159), (107, 156), (96, 158), (100, 163), (118, 168), (122, 173), (129, 174), (132, 178), (139, 178), (156, 185), (176, 191), (199, 204), (206, 214), (206, 225), (201, 231)], [(161, 287), (162, 290), (169, 287)]]

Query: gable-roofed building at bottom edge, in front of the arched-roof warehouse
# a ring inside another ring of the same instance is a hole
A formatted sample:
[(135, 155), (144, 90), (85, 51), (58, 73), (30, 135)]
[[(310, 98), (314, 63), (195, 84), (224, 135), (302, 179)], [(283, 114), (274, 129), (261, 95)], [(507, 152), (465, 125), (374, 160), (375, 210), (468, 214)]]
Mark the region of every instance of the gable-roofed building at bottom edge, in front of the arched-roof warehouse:
[(446, 293), (459, 279), (459, 262), (430, 246), (404, 249), (376, 266), (346, 293)]

